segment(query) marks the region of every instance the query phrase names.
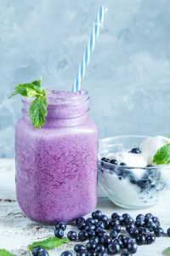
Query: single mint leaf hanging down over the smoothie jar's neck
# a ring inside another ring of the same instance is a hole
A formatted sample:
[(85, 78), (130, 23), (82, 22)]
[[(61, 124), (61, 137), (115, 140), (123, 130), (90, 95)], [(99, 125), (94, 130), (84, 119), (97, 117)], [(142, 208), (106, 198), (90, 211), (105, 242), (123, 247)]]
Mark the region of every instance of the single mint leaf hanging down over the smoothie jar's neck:
[(45, 124), (45, 117), (48, 114), (48, 101), (46, 96), (37, 96), (37, 98), (31, 102), (29, 109), (31, 123), (37, 128), (41, 128)]

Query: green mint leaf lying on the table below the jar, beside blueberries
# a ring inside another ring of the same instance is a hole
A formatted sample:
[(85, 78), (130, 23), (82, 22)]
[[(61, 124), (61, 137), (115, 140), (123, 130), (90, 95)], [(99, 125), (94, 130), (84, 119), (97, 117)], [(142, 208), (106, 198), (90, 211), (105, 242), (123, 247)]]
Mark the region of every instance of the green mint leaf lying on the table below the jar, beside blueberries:
[(32, 249), (34, 247), (37, 247), (37, 246), (41, 246), (43, 247), (44, 249), (54, 249), (55, 247), (59, 247), (61, 246), (62, 244), (64, 243), (68, 243), (69, 240), (67, 238), (57, 238), (57, 237), (49, 237), (48, 239), (46, 240), (43, 240), (43, 241), (34, 241), (31, 246), (29, 247), (30, 251), (32, 251)]

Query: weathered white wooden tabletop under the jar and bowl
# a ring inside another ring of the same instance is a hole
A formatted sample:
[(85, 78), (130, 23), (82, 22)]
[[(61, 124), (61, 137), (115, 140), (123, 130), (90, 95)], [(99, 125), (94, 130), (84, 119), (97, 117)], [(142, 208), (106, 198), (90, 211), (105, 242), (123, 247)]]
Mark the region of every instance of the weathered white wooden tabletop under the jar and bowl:
[[(46, 239), (54, 236), (54, 227), (37, 224), (26, 218), (20, 211), (15, 201), (14, 188), (14, 160), (0, 159), (0, 248), (6, 248), (16, 255), (31, 255), (28, 252), (28, 245), (33, 241)], [(111, 212), (130, 213), (133, 218), (142, 212), (152, 212), (160, 218), (164, 230), (170, 227), (170, 193), (156, 207), (143, 211), (125, 210), (116, 207), (107, 198), (99, 198), (97, 209), (111, 217)], [(76, 229), (68, 225), (67, 231)], [(49, 256), (59, 256), (65, 249), (72, 251), (73, 244), (69, 243), (49, 252)], [(156, 242), (149, 246), (138, 248), (137, 256), (160, 256), (165, 248), (170, 247), (170, 237), (164, 236), (156, 239)], [(73, 251), (72, 251), (73, 252)], [(75, 254), (73, 254), (75, 255)]]

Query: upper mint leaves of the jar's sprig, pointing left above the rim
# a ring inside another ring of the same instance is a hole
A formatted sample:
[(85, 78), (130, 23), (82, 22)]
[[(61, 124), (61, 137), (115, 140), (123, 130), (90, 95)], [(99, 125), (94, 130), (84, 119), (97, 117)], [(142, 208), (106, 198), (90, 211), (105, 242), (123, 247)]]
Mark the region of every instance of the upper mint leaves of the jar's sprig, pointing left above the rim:
[(17, 94), (20, 94), (21, 96), (28, 96), (28, 91), (29, 90), (35, 90), (37, 94), (42, 94), (44, 95), (44, 90), (41, 88), (41, 80), (36, 80), (33, 81), (29, 84), (18, 84), (17, 86), (14, 87), (14, 93), (9, 96), (8, 98), (11, 98), (12, 96), (15, 96)]

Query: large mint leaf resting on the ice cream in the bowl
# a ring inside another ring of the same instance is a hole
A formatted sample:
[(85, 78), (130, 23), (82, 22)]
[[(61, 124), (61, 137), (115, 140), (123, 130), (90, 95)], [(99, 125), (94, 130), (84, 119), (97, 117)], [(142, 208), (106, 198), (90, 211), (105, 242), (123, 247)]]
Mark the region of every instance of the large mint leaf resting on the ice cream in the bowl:
[(170, 144), (166, 144), (157, 150), (153, 163), (156, 165), (170, 164)]

